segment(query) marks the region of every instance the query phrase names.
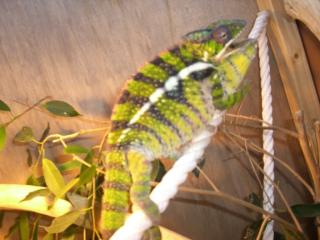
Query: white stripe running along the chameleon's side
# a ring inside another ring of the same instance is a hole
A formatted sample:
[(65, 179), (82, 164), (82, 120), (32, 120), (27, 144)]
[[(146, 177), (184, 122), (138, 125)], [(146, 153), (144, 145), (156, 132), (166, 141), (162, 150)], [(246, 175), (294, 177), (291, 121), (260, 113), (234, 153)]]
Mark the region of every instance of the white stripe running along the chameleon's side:
[[(145, 114), (150, 107), (155, 104), (165, 92), (172, 91), (178, 87), (179, 81), (182, 79), (186, 79), (190, 74), (197, 71), (202, 71), (208, 68), (213, 68), (213, 64), (206, 62), (196, 62), (188, 67), (180, 70), (180, 72), (176, 76), (169, 77), (164, 84), (164, 87), (157, 88), (154, 93), (152, 93), (149, 97), (149, 101), (143, 104), (143, 106), (139, 109), (139, 111), (131, 118), (128, 123), (128, 126), (136, 123), (140, 117)], [(126, 134), (131, 130), (131, 128), (126, 128), (122, 131), (120, 137), (117, 142), (120, 143)]]

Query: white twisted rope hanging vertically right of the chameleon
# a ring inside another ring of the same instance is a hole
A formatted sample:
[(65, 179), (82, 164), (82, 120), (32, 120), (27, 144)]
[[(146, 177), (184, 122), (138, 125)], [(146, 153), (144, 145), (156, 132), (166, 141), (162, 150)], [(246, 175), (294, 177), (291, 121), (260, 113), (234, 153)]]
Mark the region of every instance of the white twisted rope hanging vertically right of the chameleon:
[[(265, 123), (272, 124), (272, 95), (271, 95), (271, 77), (268, 55), (268, 38), (266, 36), (266, 24), (268, 19), (268, 12), (261, 12), (257, 19), (255, 26), (261, 25), (258, 30), (252, 29), (249, 34), (250, 37), (258, 38), (259, 45), (259, 65), (261, 78), (261, 99), (262, 99), (262, 119)], [(262, 32), (261, 32), (261, 30)], [(257, 33), (259, 32), (259, 34)], [(263, 126), (267, 124), (263, 123)], [(263, 149), (274, 154), (273, 131), (270, 129), (263, 130)], [(266, 176), (263, 179), (263, 209), (273, 213), (274, 208), (274, 161), (270, 155), (263, 155), (264, 168), (263, 171)], [(263, 233), (263, 240), (273, 239), (273, 221), (270, 221)]]

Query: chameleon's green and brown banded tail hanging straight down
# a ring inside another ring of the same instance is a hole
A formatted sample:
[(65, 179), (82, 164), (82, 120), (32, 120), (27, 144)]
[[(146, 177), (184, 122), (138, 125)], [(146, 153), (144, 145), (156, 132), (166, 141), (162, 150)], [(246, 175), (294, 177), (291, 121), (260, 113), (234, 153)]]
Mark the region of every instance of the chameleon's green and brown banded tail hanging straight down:
[(124, 223), (129, 207), (131, 177), (126, 166), (126, 153), (123, 151), (108, 152), (105, 167), (100, 231), (103, 239), (108, 239)]

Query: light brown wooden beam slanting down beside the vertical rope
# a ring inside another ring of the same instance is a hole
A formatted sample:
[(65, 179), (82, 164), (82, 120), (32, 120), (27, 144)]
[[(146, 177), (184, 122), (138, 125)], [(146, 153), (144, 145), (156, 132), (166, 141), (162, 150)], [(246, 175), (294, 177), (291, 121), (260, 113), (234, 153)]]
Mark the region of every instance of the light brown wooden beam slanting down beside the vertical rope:
[(269, 10), (268, 36), (275, 55), (291, 113), (302, 110), (308, 133), (320, 117), (320, 104), (296, 23), (286, 14), (282, 1), (257, 0)]

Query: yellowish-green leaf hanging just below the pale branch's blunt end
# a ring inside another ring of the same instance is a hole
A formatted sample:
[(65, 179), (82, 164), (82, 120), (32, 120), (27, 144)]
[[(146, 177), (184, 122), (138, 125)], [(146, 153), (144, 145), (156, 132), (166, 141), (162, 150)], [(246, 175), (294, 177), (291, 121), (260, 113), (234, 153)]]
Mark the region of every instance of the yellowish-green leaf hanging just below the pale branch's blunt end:
[(49, 227), (46, 227), (48, 233), (60, 233), (66, 230), (71, 224), (73, 224), (77, 219), (84, 214), (85, 211), (77, 210), (69, 212), (61, 217), (55, 218)]

